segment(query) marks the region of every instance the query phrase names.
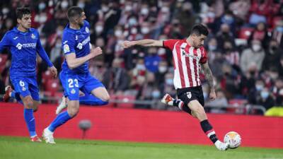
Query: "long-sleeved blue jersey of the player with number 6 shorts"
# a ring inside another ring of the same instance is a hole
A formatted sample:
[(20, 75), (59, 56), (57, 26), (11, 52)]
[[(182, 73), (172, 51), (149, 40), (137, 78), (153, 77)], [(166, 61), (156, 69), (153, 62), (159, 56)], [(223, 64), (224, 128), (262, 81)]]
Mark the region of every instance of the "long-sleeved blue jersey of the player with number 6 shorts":
[(0, 42), (0, 53), (4, 48), (10, 49), (12, 54), (10, 76), (35, 76), (37, 52), (48, 66), (52, 66), (34, 28), (25, 33), (16, 27), (9, 30)]

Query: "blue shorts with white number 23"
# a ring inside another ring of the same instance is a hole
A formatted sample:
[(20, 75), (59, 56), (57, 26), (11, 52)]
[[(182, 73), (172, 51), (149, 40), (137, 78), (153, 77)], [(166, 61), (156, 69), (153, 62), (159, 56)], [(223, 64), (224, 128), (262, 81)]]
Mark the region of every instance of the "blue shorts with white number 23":
[(69, 100), (79, 100), (79, 90), (83, 90), (84, 93), (91, 93), (98, 87), (104, 87), (98, 79), (91, 76), (91, 73), (81, 74), (68, 74), (63, 71), (59, 74), (60, 81), (64, 88), (64, 96)]

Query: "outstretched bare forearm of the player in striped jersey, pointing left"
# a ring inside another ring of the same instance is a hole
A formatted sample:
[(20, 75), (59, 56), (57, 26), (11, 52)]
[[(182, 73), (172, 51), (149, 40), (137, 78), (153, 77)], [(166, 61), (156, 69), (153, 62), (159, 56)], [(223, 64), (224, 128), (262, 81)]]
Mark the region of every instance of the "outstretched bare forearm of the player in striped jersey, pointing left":
[(122, 43), (123, 48), (133, 47), (134, 45), (139, 45), (143, 47), (163, 47), (163, 41), (161, 40), (137, 40), (137, 41), (125, 41)]

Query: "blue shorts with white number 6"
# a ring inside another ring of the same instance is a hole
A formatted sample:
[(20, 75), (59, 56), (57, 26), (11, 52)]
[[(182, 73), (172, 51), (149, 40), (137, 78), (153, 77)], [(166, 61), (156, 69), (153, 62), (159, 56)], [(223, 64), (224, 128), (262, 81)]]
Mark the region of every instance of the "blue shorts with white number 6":
[(27, 95), (31, 95), (33, 100), (37, 100), (37, 101), (40, 100), (36, 76), (28, 76), (28, 77), (10, 76), (10, 79), (16, 93), (23, 96), (23, 98), (26, 97)]

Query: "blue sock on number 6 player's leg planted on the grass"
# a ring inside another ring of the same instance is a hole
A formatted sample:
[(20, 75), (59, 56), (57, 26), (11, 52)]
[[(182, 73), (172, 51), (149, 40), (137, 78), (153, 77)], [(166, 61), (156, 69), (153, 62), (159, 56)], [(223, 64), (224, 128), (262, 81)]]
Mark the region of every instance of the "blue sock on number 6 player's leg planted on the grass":
[(33, 109), (24, 109), (23, 117), (25, 118), (25, 123), (28, 126), (28, 131), (30, 132), (30, 137), (36, 136), (35, 132), (35, 117), (33, 117)]

